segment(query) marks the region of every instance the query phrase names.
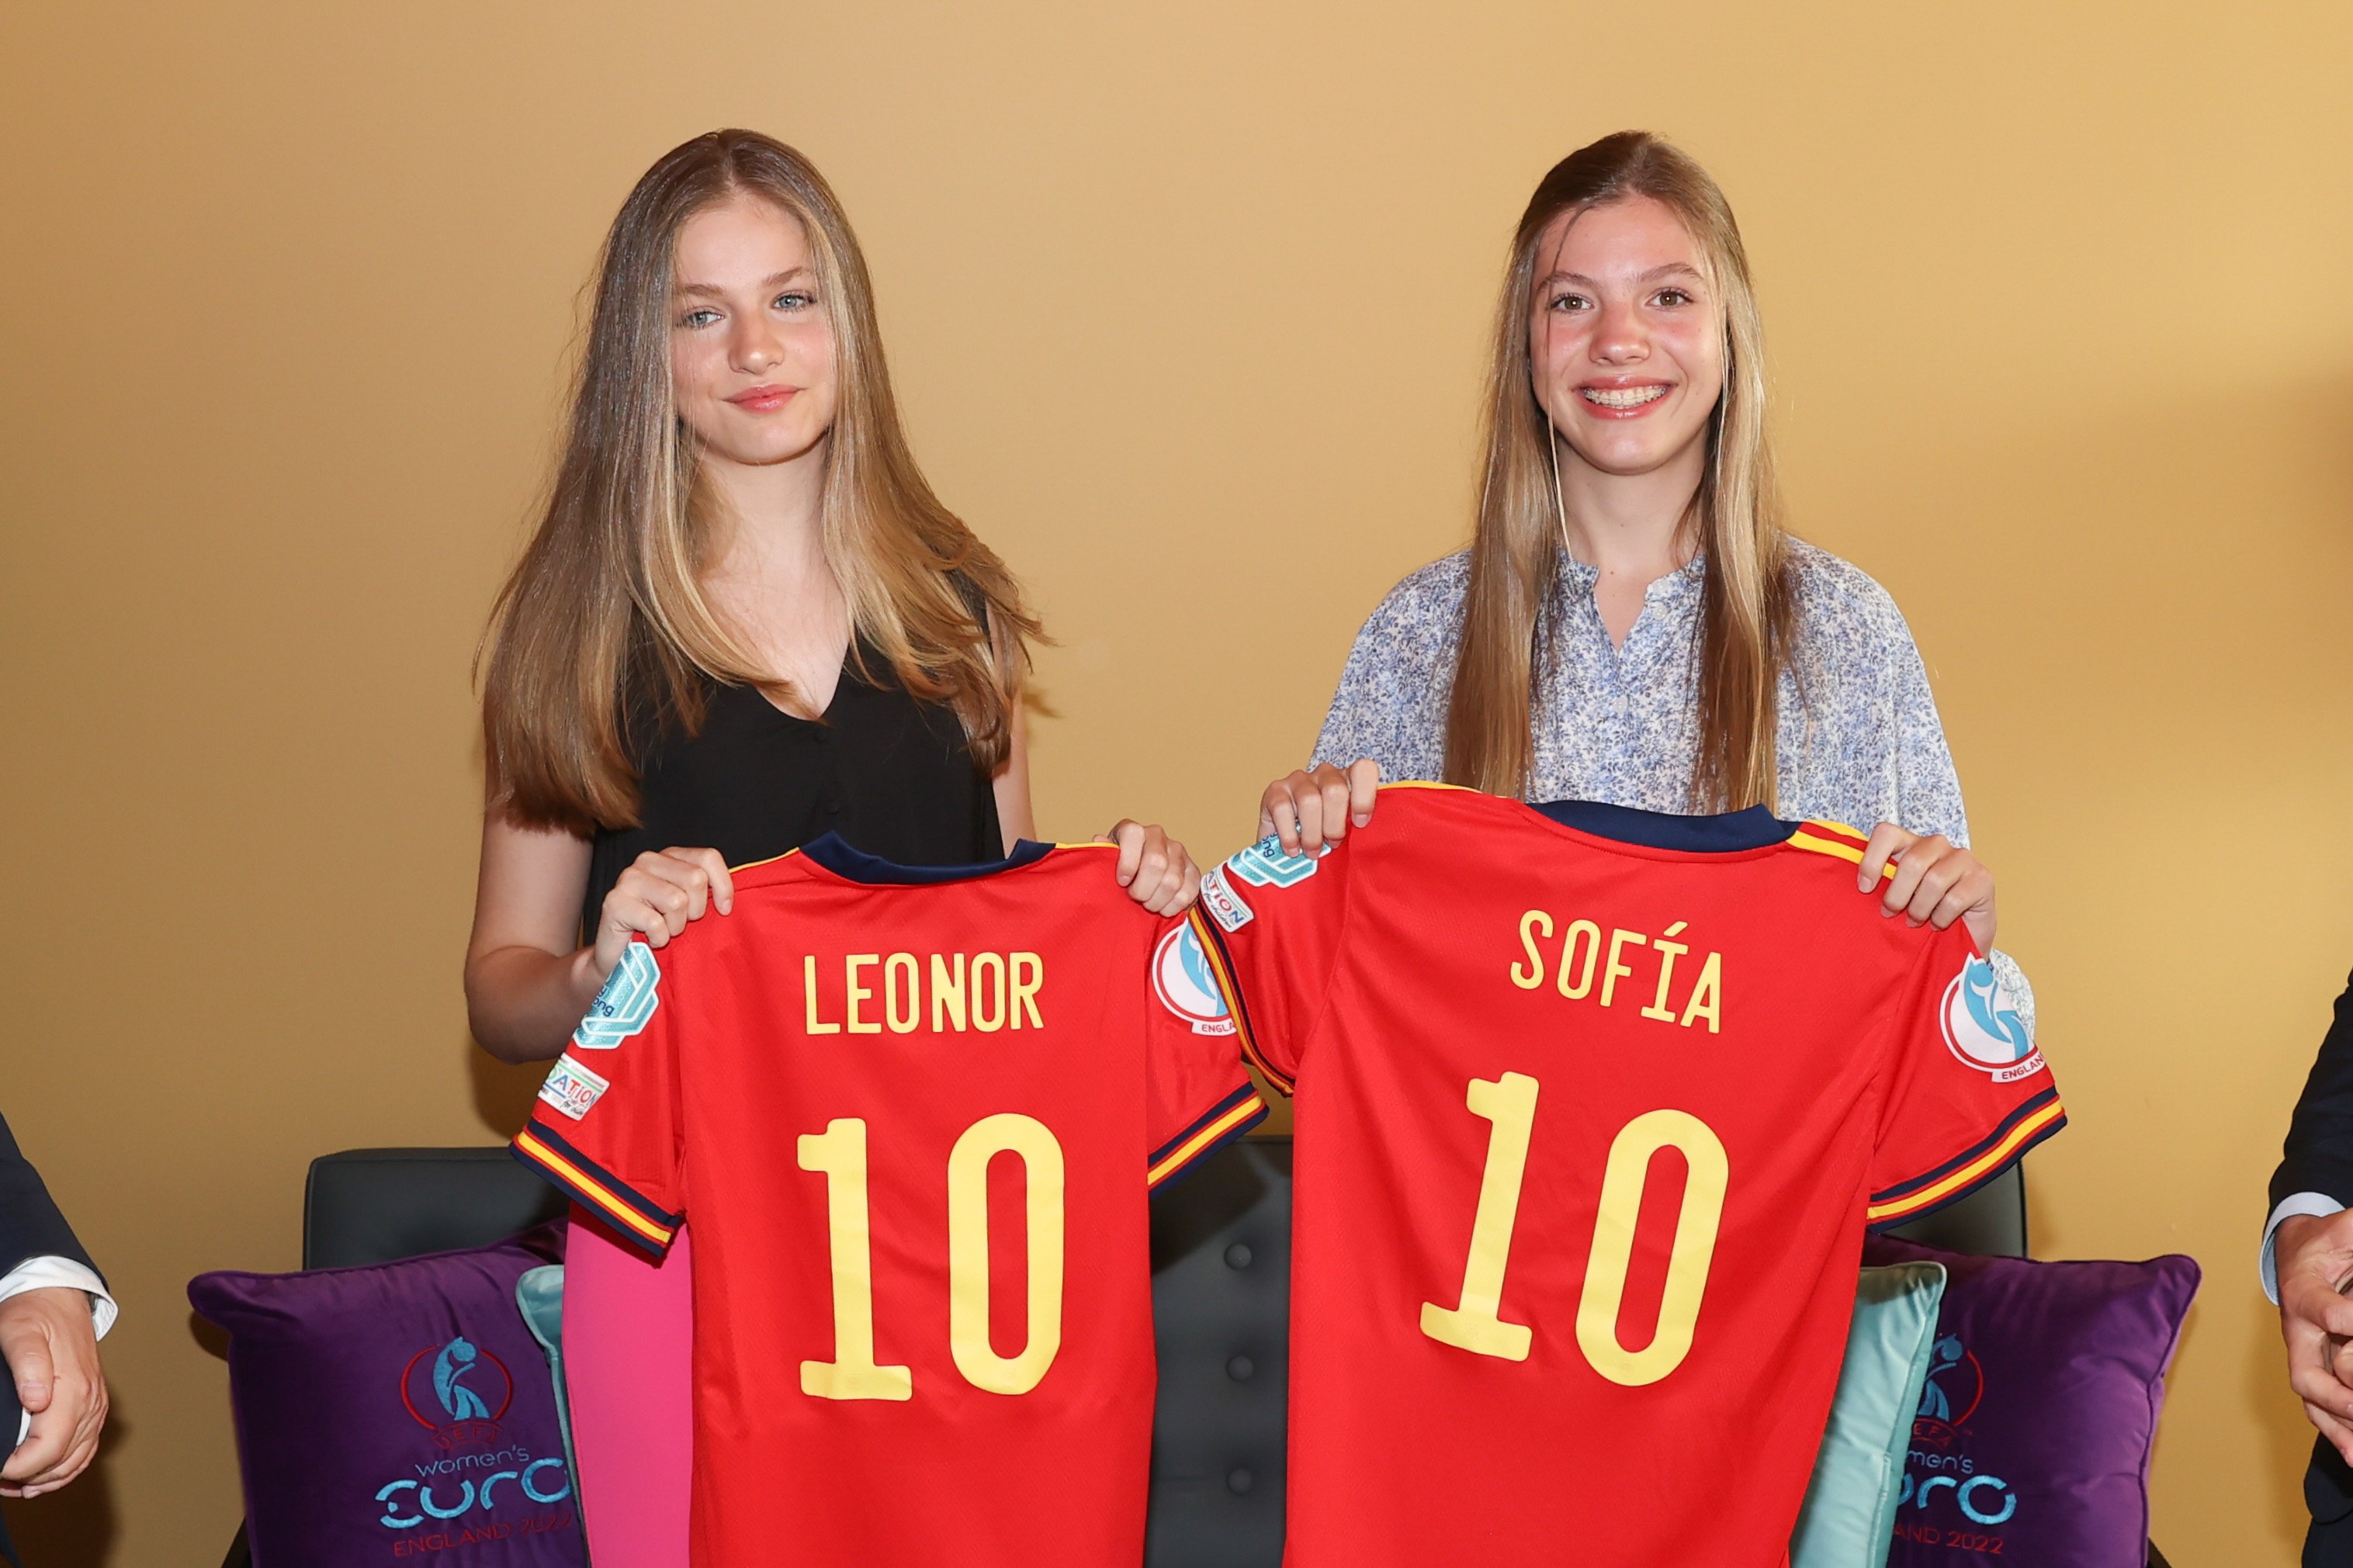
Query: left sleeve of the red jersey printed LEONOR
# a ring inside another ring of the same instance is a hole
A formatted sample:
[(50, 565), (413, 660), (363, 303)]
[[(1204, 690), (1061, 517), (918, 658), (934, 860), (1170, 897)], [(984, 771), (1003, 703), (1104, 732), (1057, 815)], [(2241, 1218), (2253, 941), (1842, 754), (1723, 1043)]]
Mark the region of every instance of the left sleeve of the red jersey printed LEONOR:
[(687, 1206), (678, 1013), (654, 950), (631, 943), (513, 1143), (515, 1159), (656, 1258)]

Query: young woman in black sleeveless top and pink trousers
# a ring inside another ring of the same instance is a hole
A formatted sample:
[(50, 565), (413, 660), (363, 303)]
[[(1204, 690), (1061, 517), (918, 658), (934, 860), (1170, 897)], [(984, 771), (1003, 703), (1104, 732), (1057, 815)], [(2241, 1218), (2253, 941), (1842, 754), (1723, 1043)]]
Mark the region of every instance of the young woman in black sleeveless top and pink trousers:
[[(908, 865), (1007, 853), (1035, 635), (915, 465), (826, 181), (753, 132), (671, 150), (605, 240), (553, 494), (487, 632), (475, 1039), (555, 1058), (628, 943), (725, 919), (729, 865), (828, 830)], [(1111, 837), (1132, 898), (1191, 903), (1181, 844)], [(689, 1269), (574, 1215), (581, 1497), (633, 1568), (687, 1561)]]

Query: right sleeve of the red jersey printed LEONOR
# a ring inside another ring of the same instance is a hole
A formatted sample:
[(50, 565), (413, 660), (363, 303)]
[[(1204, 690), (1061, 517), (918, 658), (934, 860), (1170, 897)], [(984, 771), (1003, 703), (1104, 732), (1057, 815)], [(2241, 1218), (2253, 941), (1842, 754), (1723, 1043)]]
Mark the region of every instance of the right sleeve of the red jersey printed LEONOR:
[(1153, 943), (1144, 1006), (1146, 1180), (1158, 1192), (1266, 1119), (1200, 929), (1172, 919)]

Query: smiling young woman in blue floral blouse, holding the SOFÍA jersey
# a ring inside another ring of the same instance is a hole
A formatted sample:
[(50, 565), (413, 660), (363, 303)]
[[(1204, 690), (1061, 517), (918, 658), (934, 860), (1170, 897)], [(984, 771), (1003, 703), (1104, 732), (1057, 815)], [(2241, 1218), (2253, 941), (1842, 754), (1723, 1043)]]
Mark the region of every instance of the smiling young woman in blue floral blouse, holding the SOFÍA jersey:
[[(1560, 160), (1513, 235), (1471, 548), (1372, 614), (1308, 769), (1259, 832), (1318, 849), (1377, 778), (1647, 811), (1769, 806), (1871, 827), (1859, 889), (1969, 924), (1953, 755), (1894, 599), (1781, 522), (1765, 355), (1732, 205), (1619, 132)], [(1875, 825), (1875, 827), (1873, 827)], [(2017, 966), (1993, 954), (2026, 1020)]]

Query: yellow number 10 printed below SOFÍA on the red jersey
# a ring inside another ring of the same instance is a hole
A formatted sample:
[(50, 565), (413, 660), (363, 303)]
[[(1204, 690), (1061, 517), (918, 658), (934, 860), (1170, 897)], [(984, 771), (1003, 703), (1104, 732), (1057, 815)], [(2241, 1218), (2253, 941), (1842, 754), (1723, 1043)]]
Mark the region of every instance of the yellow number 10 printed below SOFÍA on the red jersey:
[[(1461, 1305), (1421, 1302), (1421, 1333), (1480, 1356), (1527, 1361), (1534, 1331), (1504, 1321), (1504, 1265), (1511, 1260), (1511, 1229), (1520, 1218), (1527, 1138), (1537, 1126), (1537, 1079), (1522, 1072), (1471, 1079), (1468, 1103), (1475, 1117), (1494, 1126), (1487, 1133), (1487, 1166), (1480, 1173), (1478, 1213), (1471, 1220)], [(1642, 1213), (1649, 1157), (1659, 1150), (1680, 1150), (1689, 1175), (1682, 1182), (1682, 1211), (1675, 1215), (1659, 1328), (1642, 1349), (1626, 1349), (1617, 1338), (1617, 1319), (1626, 1300), (1633, 1225)], [(1689, 1112), (1645, 1112), (1621, 1126), (1609, 1143), (1600, 1208), (1593, 1215), (1593, 1251), (1586, 1255), (1586, 1286), (1577, 1300), (1577, 1345), (1593, 1371), (1609, 1382), (1626, 1387), (1659, 1382), (1692, 1354), (1699, 1298), (1708, 1288), (1715, 1229), (1725, 1215), (1727, 1175), (1722, 1140)]]

